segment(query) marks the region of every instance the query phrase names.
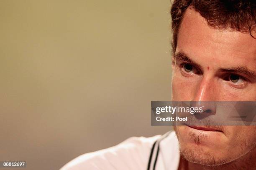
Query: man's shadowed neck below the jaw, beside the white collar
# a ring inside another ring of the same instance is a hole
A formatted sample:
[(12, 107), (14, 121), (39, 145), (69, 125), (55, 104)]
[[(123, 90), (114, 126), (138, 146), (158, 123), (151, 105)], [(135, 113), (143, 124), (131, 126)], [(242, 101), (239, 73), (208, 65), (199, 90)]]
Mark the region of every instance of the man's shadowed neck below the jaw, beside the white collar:
[(179, 161), (178, 170), (253, 170), (256, 165), (256, 149), (243, 155), (242, 157), (223, 165), (218, 166), (205, 166), (197, 163), (191, 163), (184, 159), (182, 156)]

